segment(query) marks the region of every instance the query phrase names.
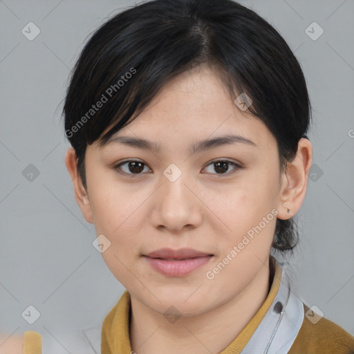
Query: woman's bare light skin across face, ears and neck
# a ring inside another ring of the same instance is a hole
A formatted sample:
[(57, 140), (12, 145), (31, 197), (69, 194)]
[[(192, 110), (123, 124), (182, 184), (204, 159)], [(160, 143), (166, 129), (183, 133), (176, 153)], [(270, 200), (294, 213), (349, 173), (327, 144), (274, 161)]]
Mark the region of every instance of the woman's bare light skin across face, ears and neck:
[[(244, 143), (189, 152), (189, 144), (228, 133)], [(87, 190), (77, 176), (75, 151), (66, 153), (75, 198), (97, 235), (111, 246), (106, 265), (131, 294), (130, 338), (136, 353), (218, 353), (257, 313), (270, 286), (269, 257), (276, 218), (254, 236), (214, 279), (205, 276), (230, 254), (243, 236), (272, 209), (277, 218), (294, 216), (304, 201), (312, 147), (299, 141), (297, 156), (280, 173), (277, 142), (250, 111), (239, 110), (208, 66), (186, 71), (166, 84), (147, 108), (118, 136), (145, 138), (160, 152), (112, 143), (87, 147)], [(140, 174), (124, 159), (145, 163)], [(223, 158), (225, 173), (212, 163)], [(174, 163), (182, 175), (174, 182), (163, 171)], [(288, 209), (292, 214), (288, 214)], [(185, 277), (153, 270), (142, 254), (159, 248), (194, 248), (214, 254)], [(175, 306), (181, 317), (167, 321)]]

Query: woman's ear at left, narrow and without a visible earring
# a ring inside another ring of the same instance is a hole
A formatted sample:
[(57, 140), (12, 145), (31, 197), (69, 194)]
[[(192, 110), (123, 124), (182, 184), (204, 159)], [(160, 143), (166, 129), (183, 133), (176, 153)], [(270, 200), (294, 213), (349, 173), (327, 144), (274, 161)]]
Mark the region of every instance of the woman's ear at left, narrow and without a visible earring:
[(68, 169), (71, 179), (73, 180), (76, 202), (79, 205), (85, 220), (88, 223), (93, 223), (93, 214), (92, 214), (90, 201), (88, 198), (88, 192), (86, 192), (86, 189), (82, 184), (82, 180), (79, 174), (77, 174), (77, 159), (73, 147), (69, 147), (68, 151), (66, 151), (65, 165), (66, 168)]

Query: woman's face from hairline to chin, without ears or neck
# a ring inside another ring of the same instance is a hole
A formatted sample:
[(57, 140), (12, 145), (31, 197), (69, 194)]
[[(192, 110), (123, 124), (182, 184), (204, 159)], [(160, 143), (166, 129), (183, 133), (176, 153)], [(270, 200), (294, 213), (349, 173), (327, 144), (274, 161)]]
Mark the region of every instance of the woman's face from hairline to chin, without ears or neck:
[[(239, 138), (193, 150), (224, 136)], [(122, 137), (151, 147), (117, 139), (85, 156), (84, 215), (110, 242), (102, 256), (111, 272), (159, 313), (174, 305), (192, 316), (238, 295), (268, 264), (281, 207), (272, 133), (198, 66), (166, 84)], [(145, 257), (161, 248), (212, 256), (179, 265)]]

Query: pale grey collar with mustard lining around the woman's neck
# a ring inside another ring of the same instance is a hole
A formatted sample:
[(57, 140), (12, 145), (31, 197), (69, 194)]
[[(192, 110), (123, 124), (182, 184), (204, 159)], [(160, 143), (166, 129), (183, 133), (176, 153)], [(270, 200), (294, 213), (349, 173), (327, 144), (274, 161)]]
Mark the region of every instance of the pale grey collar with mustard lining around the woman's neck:
[[(304, 304), (290, 291), (289, 267), (271, 256), (274, 277), (261, 308), (241, 333), (220, 354), (285, 354), (295, 341), (304, 319)], [(129, 339), (130, 294), (122, 297), (101, 326), (84, 330), (95, 353), (131, 353)], [(119, 335), (118, 335), (119, 333)]]

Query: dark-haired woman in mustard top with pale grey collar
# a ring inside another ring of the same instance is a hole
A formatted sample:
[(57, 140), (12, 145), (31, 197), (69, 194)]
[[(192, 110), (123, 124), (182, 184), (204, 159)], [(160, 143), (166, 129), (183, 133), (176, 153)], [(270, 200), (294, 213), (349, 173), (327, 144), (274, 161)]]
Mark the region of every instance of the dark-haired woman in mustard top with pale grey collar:
[(354, 353), (271, 255), (297, 243), (312, 147), (304, 75), (268, 22), (231, 0), (121, 12), (64, 116), (75, 198), (127, 289), (102, 354)]

